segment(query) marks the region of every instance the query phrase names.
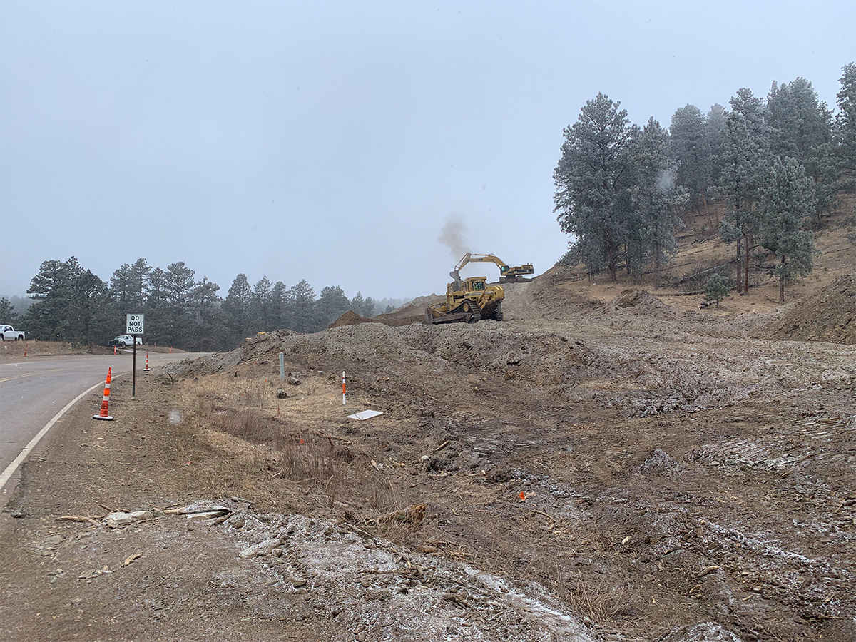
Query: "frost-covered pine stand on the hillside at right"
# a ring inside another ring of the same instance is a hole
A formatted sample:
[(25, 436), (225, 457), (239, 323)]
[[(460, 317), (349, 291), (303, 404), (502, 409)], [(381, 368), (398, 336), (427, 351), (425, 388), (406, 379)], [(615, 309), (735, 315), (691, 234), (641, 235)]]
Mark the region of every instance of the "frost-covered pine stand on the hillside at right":
[(694, 211), (734, 244), (738, 292), (754, 263), (779, 280), (783, 302), (785, 283), (811, 271), (812, 229), (856, 184), (856, 65), (842, 71), (835, 116), (805, 78), (774, 82), (766, 98), (740, 89), (729, 109), (707, 114), (687, 104), (668, 129), (653, 118), (631, 125), (603, 93), (586, 101), (553, 172), (560, 227), (576, 237), (565, 260), (613, 281), (619, 270), (635, 282), (651, 271), (659, 287), (679, 214)]

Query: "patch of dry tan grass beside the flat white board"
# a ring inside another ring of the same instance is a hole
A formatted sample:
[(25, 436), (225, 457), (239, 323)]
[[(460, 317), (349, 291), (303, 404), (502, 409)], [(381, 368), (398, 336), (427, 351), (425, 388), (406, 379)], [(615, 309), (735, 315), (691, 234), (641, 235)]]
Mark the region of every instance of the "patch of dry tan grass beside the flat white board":
[[(341, 396), (323, 376), (292, 386), (270, 377), (264, 367), (245, 366), (238, 373), (184, 380), (177, 392), (200, 438), (244, 468), (242, 477), (247, 468), (264, 473), (266, 487), (254, 488), (269, 495), (270, 502), (344, 509), (357, 521), (407, 508), (407, 497), (389, 470), (336, 436), (343, 419)], [(276, 398), (277, 389), (285, 389), (288, 397)], [(389, 535), (407, 529), (383, 525), (379, 530)]]

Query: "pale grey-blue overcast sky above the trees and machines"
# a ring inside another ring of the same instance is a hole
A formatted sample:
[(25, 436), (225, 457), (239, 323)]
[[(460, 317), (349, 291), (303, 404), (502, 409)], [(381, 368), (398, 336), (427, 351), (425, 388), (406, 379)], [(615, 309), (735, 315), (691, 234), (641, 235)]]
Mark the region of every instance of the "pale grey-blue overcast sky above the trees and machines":
[[(835, 108), (847, 2), (0, 2), (0, 294), (74, 255), (184, 261), (377, 299), (467, 249), (564, 253), (552, 172), (597, 92), (633, 122), (811, 80)], [(476, 265), (465, 274), (497, 276)]]

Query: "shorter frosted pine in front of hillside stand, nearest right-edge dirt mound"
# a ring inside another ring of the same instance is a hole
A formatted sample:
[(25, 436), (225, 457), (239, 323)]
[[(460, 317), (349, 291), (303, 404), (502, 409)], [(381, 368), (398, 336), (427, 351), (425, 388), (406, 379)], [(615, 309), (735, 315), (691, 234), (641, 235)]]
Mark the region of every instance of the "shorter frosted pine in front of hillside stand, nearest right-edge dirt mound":
[(759, 211), (761, 244), (776, 255), (770, 271), (779, 280), (779, 303), (784, 303), (785, 283), (811, 273), (814, 253), (814, 235), (805, 229), (815, 211), (814, 185), (795, 158), (773, 160)]

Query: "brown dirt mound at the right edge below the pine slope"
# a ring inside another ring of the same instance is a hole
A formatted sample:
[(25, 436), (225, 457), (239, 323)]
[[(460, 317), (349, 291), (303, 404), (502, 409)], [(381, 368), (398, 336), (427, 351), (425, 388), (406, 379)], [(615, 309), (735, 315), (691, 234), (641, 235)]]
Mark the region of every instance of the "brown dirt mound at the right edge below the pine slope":
[(770, 339), (856, 343), (856, 276), (839, 276), (817, 294), (783, 310)]

